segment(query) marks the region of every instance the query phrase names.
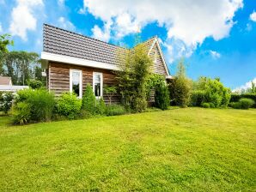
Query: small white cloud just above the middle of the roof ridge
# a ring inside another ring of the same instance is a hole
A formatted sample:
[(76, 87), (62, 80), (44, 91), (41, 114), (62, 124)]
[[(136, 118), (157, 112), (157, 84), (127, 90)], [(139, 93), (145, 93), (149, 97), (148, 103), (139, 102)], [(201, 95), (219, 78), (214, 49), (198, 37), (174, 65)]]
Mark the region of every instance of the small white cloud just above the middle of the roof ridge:
[(103, 41), (107, 42), (110, 39), (110, 28), (111, 28), (111, 26), (112, 26), (111, 21), (105, 23), (103, 29), (101, 29), (99, 26), (95, 25), (92, 28), (93, 37), (95, 39), (100, 39), (100, 40), (103, 40)]

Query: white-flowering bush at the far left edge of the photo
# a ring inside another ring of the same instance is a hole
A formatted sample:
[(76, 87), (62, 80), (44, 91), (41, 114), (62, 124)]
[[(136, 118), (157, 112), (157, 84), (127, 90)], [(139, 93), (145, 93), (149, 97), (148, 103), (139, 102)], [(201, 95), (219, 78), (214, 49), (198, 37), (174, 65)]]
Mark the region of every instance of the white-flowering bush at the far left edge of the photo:
[(0, 98), (0, 111), (3, 111), (4, 114), (7, 114), (8, 111), (11, 109), (12, 101), (17, 96), (16, 93), (2, 93)]

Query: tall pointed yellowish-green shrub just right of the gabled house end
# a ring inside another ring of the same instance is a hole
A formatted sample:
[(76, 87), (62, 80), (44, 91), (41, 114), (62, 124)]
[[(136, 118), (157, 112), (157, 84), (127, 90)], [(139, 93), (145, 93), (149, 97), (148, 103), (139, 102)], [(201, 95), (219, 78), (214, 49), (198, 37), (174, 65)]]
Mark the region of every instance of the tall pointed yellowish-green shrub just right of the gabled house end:
[(178, 64), (177, 75), (169, 83), (170, 99), (172, 104), (186, 107), (189, 105), (192, 93), (192, 81), (186, 77), (184, 61)]

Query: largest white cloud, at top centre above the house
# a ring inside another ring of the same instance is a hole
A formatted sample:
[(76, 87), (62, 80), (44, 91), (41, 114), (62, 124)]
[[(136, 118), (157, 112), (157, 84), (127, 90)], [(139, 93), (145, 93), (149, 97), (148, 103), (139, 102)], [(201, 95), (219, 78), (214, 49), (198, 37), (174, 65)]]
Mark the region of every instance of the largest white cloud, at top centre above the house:
[[(235, 11), (243, 6), (242, 0), (83, 0), (83, 3), (82, 10), (106, 24), (113, 23), (110, 29), (113, 38), (136, 33), (156, 21), (168, 31), (168, 39), (164, 39), (167, 45), (172, 42), (173, 51), (180, 47), (180, 53), (188, 55), (207, 37), (215, 40), (227, 37), (234, 25)], [(94, 27), (93, 31), (99, 33), (102, 29)]]

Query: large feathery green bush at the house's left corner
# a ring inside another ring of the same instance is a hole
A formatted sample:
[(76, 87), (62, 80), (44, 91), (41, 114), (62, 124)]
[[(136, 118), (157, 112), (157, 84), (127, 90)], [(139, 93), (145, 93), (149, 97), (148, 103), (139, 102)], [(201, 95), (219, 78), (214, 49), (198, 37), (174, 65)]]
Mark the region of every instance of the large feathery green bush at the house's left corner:
[(31, 106), (31, 120), (34, 122), (50, 121), (52, 119), (55, 98), (46, 89), (23, 89), (18, 92), (16, 103), (25, 102)]

